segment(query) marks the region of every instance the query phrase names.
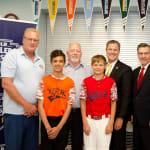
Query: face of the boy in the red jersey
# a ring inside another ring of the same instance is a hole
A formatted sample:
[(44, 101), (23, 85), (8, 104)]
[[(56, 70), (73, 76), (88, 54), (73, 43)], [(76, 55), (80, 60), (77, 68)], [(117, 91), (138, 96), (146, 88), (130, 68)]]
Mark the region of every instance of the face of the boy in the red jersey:
[(98, 62), (96, 61), (92, 64), (92, 69), (93, 69), (94, 75), (104, 75), (106, 64), (102, 60)]

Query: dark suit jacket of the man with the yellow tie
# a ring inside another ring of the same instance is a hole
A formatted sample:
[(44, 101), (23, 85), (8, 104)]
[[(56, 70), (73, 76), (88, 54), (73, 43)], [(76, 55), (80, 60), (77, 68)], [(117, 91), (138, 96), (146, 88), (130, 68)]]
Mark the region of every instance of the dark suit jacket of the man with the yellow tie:
[(132, 92), (132, 69), (118, 60), (110, 77), (113, 78), (117, 84), (118, 101), (116, 118), (120, 117), (124, 120), (129, 120)]

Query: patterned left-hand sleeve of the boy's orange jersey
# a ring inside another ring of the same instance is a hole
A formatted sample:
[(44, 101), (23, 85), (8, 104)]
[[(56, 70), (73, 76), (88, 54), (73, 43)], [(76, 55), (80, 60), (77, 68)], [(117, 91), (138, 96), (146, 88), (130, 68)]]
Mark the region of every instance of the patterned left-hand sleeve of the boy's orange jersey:
[(39, 87), (37, 89), (37, 92), (36, 92), (36, 98), (38, 100), (44, 100), (43, 91), (44, 91), (44, 82), (43, 82), (43, 80), (41, 80), (40, 83), (39, 83)]

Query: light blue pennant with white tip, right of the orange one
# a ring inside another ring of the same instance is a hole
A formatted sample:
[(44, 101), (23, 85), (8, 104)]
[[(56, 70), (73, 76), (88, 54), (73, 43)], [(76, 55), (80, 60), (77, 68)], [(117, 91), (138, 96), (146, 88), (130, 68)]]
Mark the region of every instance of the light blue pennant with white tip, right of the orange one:
[(88, 31), (90, 31), (92, 12), (93, 12), (93, 0), (84, 0), (84, 13)]

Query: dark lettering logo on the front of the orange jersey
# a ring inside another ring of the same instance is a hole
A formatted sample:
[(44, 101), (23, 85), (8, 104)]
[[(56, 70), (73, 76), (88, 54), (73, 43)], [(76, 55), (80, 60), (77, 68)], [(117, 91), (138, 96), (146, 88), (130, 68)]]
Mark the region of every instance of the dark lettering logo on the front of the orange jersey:
[(48, 89), (48, 94), (50, 95), (48, 96), (48, 99), (50, 100), (50, 102), (52, 102), (53, 100), (57, 98), (66, 99), (65, 91), (59, 88)]

